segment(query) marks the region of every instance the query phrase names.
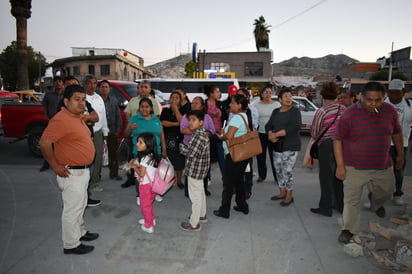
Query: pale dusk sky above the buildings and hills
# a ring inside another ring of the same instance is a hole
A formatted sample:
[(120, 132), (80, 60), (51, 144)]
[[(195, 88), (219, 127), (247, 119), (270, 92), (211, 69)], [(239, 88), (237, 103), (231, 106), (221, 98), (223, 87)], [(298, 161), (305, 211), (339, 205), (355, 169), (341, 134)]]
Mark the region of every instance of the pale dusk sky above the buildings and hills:
[[(71, 47), (121, 48), (145, 65), (191, 51), (256, 51), (253, 23), (269, 25), (274, 62), (346, 54), (374, 62), (412, 45), (411, 0), (39, 0), (32, 1), (28, 45), (48, 62)], [(0, 49), (16, 39), (10, 1), (0, 1)]]

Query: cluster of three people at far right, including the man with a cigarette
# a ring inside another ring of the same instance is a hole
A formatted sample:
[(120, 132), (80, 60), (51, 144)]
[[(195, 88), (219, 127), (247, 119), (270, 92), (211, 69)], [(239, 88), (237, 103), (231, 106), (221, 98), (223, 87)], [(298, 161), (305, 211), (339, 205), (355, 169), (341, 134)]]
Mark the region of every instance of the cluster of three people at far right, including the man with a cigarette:
[(393, 79), (388, 91), (369, 82), (358, 96), (340, 92), (334, 82), (321, 89), (324, 105), (311, 127), (319, 147), (321, 191), (318, 207), (310, 211), (328, 217), (333, 210), (342, 213), (339, 242), (348, 243), (358, 226), (364, 186), (369, 198), (364, 206), (378, 217), (385, 217), (386, 201), (404, 204), (403, 170), (412, 124), (404, 87), (402, 80)]

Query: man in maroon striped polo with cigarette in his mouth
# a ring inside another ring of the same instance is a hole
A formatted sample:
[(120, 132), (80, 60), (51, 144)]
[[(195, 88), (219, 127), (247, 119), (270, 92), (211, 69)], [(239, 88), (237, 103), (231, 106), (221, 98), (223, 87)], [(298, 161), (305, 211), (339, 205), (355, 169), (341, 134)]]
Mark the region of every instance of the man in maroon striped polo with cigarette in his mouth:
[[(403, 165), (403, 137), (394, 107), (384, 102), (385, 86), (369, 82), (360, 102), (347, 108), (336, 124), (333, 148), (336, 177), (344, 182), (343, 227), (339, 241), (348, 243), (360, 218), (362, 188), (368, 184), (371, 210), (385, 216), (384, 203), (392, 197), (395, 177), (392, 165)], [(397, 151), (396, 163), (389, 154), (391, 140)]]

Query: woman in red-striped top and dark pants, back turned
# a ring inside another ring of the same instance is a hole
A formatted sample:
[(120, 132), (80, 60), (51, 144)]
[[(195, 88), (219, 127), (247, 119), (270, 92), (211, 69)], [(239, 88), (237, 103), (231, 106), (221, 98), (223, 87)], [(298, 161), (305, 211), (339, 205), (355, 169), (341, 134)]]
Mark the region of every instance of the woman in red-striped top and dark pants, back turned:
[(336, 100), (338, 94), (339, 87), (334, 82), (322, 86), (320, 95), (324, 105), (316, 111), (311, 127), (311, 136), (318, 146), (320, 200), (319, 207), (310, 211), (328, 217), (332, 216), (333, 208), (343, 212), (343, 183), (335, 176), (336, 161), (331, 138), (335, 131), (333, 125), (345, 110), (345, 106)]

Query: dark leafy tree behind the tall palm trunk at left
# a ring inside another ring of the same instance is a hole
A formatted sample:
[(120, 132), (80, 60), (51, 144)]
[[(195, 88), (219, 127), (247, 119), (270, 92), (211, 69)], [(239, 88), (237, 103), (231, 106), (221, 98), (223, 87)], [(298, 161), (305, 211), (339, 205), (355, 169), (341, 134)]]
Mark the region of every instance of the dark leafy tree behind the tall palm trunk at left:
[[(29, 85), (34, 89), (34, 83), (39, 76), (46, 72), (46, 58), (34, 51), (31, 46), (27, 47), (29, 66)], [(40, 69), (40, 71), (39, 71)], [(17, 42), (13, 41), (0, 54), (0, 75), (3, 81), (3, 89), (14, 91), (17, 86)]]

